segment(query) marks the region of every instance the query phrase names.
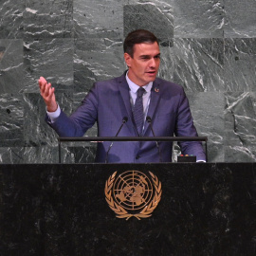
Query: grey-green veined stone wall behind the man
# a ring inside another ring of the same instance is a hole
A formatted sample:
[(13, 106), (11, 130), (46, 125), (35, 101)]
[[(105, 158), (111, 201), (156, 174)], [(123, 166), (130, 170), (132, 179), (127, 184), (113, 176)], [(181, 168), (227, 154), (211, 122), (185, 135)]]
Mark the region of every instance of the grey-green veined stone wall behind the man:
[[(184, 87), (209, 161), (256, 160), (255, 0), (0, 3), (0, 163), (58, 162), (39, 77), (72, 113), (93, 82), (123, 73), (122, 42), (136, 28), (160, 39), (158, 75)], [(94, 150), (64, 146), (64, 162), (90, 160)]]

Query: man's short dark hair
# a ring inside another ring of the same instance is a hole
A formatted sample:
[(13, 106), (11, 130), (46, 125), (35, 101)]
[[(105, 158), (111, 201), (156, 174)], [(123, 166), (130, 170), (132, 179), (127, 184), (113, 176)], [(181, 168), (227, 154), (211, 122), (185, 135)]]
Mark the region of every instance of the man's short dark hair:
[(158, 39), (155, 34), (146, 29), (137, 29), (130, 32), (123, 43), (123, 51), (128, 53), (131, 57), (134, 57), (134, 46), (142, 43), (157, 43), (159, 45)]

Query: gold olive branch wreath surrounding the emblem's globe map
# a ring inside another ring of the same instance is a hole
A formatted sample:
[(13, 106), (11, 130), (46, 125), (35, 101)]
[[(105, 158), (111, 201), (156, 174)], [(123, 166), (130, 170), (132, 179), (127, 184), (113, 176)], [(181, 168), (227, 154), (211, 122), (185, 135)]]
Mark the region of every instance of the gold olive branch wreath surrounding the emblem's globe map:
[(140, 210), (138, 213), (135, 213), (135, 214), (130, 213), (127, 210), (125, 210), (113, 198), (114, 182), (116, 180), (116, 174), (117, 174), (117, 172), (110, 175), (105, 183), (105, 190), (104, 190), (105, 199), (106, 199), (106, 202), (108, 203), (108, 206), (110, 207), (110, 209), (115, 211), (118, 218), (126, 218), (126, 220), (129, 220), (131, 217), (136, 217), (138, 220), (140, 220), (141, 218), (151, 217), (152, 212), (157, 207), (159, 201), (161, 200), (161, 195), (162, 195), (161, 182), (158, 180), (158, 178), (155, 176), (155, 174), (149, 172), (149, 174), (151, 175), (153, 184), (154, 184), (154, 188), (155, 188), (154, 197), (148, 204), (146, 204), (146, 206), (142, 210)]

